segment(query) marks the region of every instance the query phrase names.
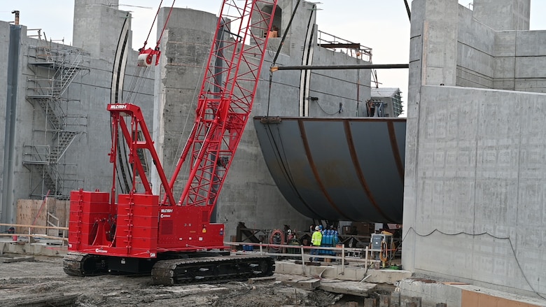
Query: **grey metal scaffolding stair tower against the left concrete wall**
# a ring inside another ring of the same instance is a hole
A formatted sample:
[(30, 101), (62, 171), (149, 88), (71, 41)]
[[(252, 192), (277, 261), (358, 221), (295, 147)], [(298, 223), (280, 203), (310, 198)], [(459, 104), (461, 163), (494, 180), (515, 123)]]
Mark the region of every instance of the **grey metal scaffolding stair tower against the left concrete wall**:
[(23, 164), (30, 171), (30, 198), (50, 192), (50, 197), (69, 199), (83, 181), (65, 153), (87, 126), (80, 100), (68, 94), (76, 76), (89, 72), (84, 62), (78, 48), (44, 43), (40, 37), (38, 45), (29, 45), (28, 67), (34, 76), (27, 78), (26, 98), (34, 106), (34, 120), (31, 144), (23, 146)]

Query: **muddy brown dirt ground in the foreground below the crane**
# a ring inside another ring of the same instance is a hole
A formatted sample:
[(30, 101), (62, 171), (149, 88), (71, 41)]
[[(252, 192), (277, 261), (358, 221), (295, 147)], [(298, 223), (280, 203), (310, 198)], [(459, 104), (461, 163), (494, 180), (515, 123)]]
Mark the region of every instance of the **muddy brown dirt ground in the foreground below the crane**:
[(364, 306), (363, 297), (301, 290), (283, 285), (290, 276), (274, 277), (166, 287), (153, 285), (149, 276), (67, 276), (61, 257), (42, 258), (0, 263), (0, 306)]

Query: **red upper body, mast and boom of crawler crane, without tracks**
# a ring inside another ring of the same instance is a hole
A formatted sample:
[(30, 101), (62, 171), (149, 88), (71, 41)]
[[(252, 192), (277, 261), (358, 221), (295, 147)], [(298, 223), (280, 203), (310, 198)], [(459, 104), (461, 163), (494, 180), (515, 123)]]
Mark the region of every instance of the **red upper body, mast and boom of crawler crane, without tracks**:
[[(209, 221), (250, 117), (277, 1), (246, 0), (244, 6), (236, 2), (239, 0), (222, 3), (195, 123), (170, 180), (140, 108), (130, 103), (109, 104), (112, 189), (110, 193), (71, 193), (69, 250), (149, 258), (157, 257), (158, 252), (226, 248), (223, 224)], [(270, 8), (271, 13), (260, 8)], [(236, 34), (231, 33), (232, 28), (238, 30)], [(120, 137), (129, 148), (128, 162), (133, 168), (129, 194), (116, 192)], [(165, 189), (162, 200), (151, 191), (139, 150), (148, 150), (153, 159)], [(185, 162), (189, 176), (176, 201), (173, 188)], [(141, 185), (137, 187), (138, 180)]]

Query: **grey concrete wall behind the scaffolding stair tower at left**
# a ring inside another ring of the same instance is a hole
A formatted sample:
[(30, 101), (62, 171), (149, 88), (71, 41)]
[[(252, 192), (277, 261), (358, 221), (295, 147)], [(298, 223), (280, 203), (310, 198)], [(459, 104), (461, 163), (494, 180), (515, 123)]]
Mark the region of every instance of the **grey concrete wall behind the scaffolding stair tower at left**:
[[(75, 10), (80, 10), (85, 1), (78, 2), (75, 6)], [(93, 4), (92, 0), (88, 1), (88, 4)], [(91, 6), (90, 6), (91, 7)], [(101, 6), (106, 8), (104, 6)], [(113, 8), (109, 8), (113, 10)], [(85, 190), (102, 190), (109, 191), (112, 183), (112, 166), (109, 163), (108, 153), (111, 147), (111, 132), (110, 132), (110, 115), (106, 110), (106, 104), (110, 100), (110, 87), (112, 80), (113, 70), (113, 52), (117, 45), (117, 39), (123, 24), (123, 18), (121, 15), (125, 13), (112, 13), (110, 17), (102, 15), (101, 22), (109, 24), (109, 27), (100, 28), (99, 33), (101, 38), (107, 39), (106, 45), (109, 45), (109, 50), (93, 49), (92, 52), (87, 52), (85, 49), (81, 50), (84, 54), (84, 62), (82, 64), (82, 71), (73, 80), (69, 89), (63, 96), (62, 103), (64, 111), (67, 115), (71, 115), (67, 121), (72, 126), (78, 126), (78, 129), (83, 132), (79, 136), (76, 136), (71, 146), (66, 150), (65, 155), (62, 158), (62, 165), (59, 164), (59, 168), (66, 168), (66, 172), (69, 173), (67, 177), (71, 180), (71, 188), (83, 188)], [(78, 14), (75, 13), (77, 16)], [(111, 18), (110, 21), (106, 20)], [(86, 19), (87, 20), (87, 19)], [(8, 22), (0, 22), (0, 50), (2, 57), (8, 56), (9, 47), (9, 27)], [(80, 29), (82, 27), (83, 29)], [(116, 30), (117, 29), (117, 30)], [(75, 33), (81, 33), (87, 31), (87, 24), (85, 20), (75, 21)], [(29, 63), (36, 62), (36, 53), (43, 52), (43, 48), (52, 49), (75, 49), (69, 45), (59, 45), (56, 43), (48, 43), (40, 41), (37, 38), (27, 36), (27, 28), (22, 26), (22, 38), (20, 45), (20, 55), (18, 59), (19, 75), (18, 75), (18, 87), (17, 91), (18, 100), (15, 110), (16, 122), (15, 122), (15, 155), (14, 155), (14, 169), (10, 173), (4, 173), (4, 166), (0, 164), (0, 173), (2, 176), (0, 180), (11, 180), (13, 190), (1, 191), (1, 196), (5, 193), (13, 194), (13, 201), (10, 204), (2, 204), (0, 208), (0, 220), (2, 222), (15, 222), (16, 210), (15, 204), (18, 199), (28, 199), (30, 194), (46, 194), (45, 190), (41, 187), (41, 176), (33, 170), (30, 166), (23, 164), (25, 157), (25, 146), (27, 145), (51, 145), (51, 131), (46, 117), (45, 110), (41, 108), (37, 103), (33, 104), (31, 99), (26, 99), (27, 94), (31, 94), (27, 91), (27, 80), (32, 78), (48, 78), (51, 76), (52, 70), (50, 68), (37, 68), (35, 65)], [(35, 33), (29, 33), (28, 35), (34, 35)], [(75, 34), (76, 35), (76, 34)], [(97, 36), (97, 37), (99, 37)], [(111, 39), (115, 37), (116, 43), (111, 44)], [(76, 42), (76, 40), (74, 40)], [(83, 40), (85, 41), (85, 39)], [(89, 41), (86, 41), (89, 43)], [(97, 43), (101, 45), (101, 43)], [(36, 47), (38, 51), (36, 51)], [(113, 49), (113, 50), (112, 50)], [(137, 63), (137, 51), (132, 51), (127, 57), (127, 76), (125, 77), (125, 85), (132, 80), (135, 67)], [(1, 61), (0, 71), (6, 73), (8, 61)], [(6, 78), (3, 78), (6, 80)], [(153, 123), (153, 73), (151, 76), (144, 78), (143, 85), (137, 89), (139, 93), (139, 106), (143, 108), (146, 120), (149, 125)], [(0, 95), (6, 95), (7, 84), (6, 82), (0, 83)], [(127, 93), (125, 93), (127, 94)], [(5, 104), (0, 108), (0, 127), (6, 126), (6, 107)], [(78, 117), (73, 117), (78, 115)], [(45, 132), (45, 127), (48, 131)], [(70, 127), (67, 129), (71, 129)], [(0, 134), (0, 142), (4, 143), (5, 134)], [(0, 157), (3, 157), (5, 150), (0, 151)], [(2, 160), (3, 161), (3, 160)], [(67, 183), (68, 185), (68, 183)], [(6, 211), (6, 206), (10, 206), (13, 210)], [(2, 229), (3, 230), (3, 229)]]

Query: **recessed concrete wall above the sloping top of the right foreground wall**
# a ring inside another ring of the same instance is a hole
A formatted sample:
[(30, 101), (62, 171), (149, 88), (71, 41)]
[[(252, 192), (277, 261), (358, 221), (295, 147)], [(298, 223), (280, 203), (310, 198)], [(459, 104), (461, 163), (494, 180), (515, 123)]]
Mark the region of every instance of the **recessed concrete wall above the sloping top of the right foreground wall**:
[[(518, 9), (512, 12), (512, 8)], [(484, 16), (485, 13), (488, 15)], [(507, 13), (516, 14), (518, 20), (526, 19), (527, 25), (494, 27), (484, 21), (508, 22), (510, 18), (503, 15)], [(545, 73), (540, 69), (546, 61), (546, 51), (542, 47), (546, 42), (546, 31), (514, 31), (528, 30), (528, 15), (528, 0), (475, 1), (474, 10), (458, 6), (458, 23), (450, 22), (450, 27), (456, 27), (458, 32), (456, 85), (546, 92)], [(428, 24), (430, 20), (426, 22), (427, 31)], [(505, 31), (496, 31), (498, 29)], [(451, 30), (448, 32), (451, 34)]]

